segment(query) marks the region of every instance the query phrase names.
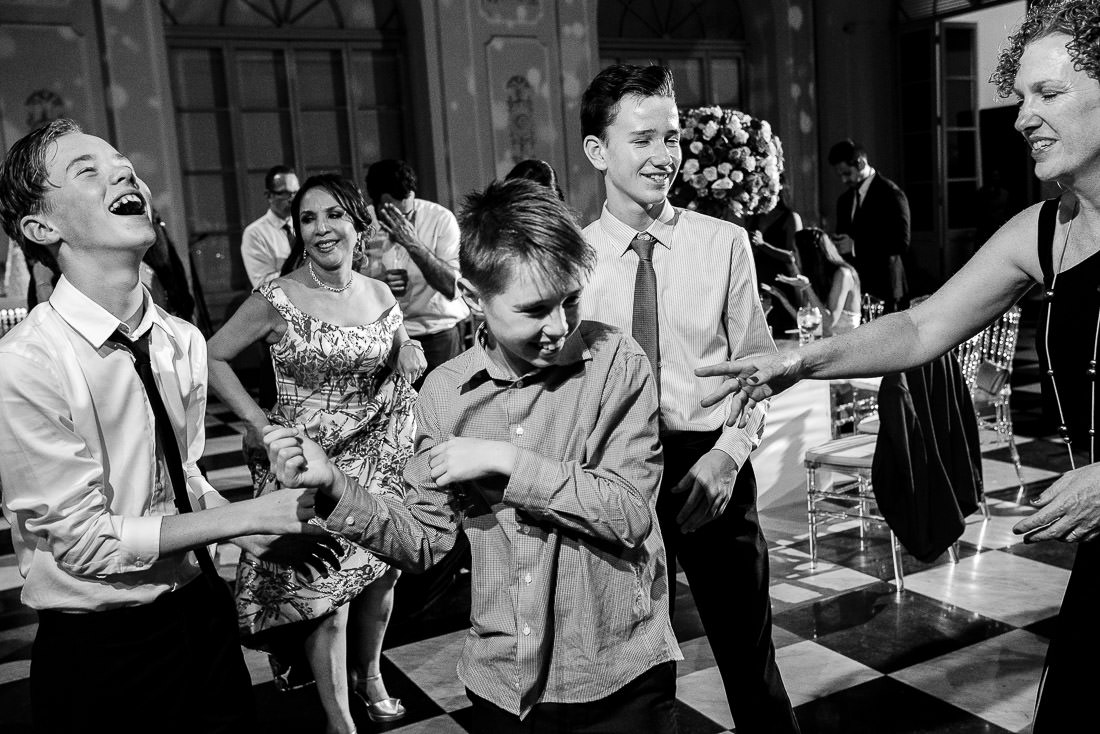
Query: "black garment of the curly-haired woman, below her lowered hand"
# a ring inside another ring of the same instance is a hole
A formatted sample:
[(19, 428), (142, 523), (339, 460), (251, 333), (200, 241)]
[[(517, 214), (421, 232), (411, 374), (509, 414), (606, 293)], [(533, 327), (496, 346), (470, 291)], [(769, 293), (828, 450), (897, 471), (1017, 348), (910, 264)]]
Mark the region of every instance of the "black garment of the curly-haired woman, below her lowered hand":
[(1033, 734), (1087, 731), (1096, 719), (1092, 697), (1100, 673), (1100, 543), (1077, 547), (1069, 585), (1062, 600), (1058, 625), (1046, 651), (1046, 670), (1035, 708)]

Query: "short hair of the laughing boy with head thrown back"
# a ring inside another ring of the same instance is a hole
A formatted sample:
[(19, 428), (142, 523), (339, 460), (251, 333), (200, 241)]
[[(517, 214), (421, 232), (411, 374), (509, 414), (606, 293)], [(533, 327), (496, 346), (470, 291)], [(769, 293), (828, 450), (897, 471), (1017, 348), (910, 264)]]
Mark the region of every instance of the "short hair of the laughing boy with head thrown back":
[(41, 250), (45, 248), (23, 237), (21, 222), (28, 215), (50, 212), (50, 146), (63, 135), (79, 132), (84, 131), (76, 122), (58, 118), (16, 140), (0, 162), (0, 223), (12, 242), (32, 259), (42, 260)]

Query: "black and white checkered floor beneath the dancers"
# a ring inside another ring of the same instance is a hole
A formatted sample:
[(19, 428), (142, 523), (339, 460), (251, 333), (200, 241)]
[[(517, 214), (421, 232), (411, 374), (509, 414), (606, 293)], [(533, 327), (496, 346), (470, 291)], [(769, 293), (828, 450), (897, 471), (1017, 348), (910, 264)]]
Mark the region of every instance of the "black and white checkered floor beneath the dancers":
[[(991, 517), (969, 518), (957, 565), (946, 556), (926, 565), (906, 555), (905, 590), (895, 593), (884, 532), (872, 530), (861, 548), (858, 527), (833, 526), (811, 567), (804, 505), (761, 513), (771, 545), (779, 666), (804, 732), (1027, 731), (1074, 557), (1062, 544), (1023, 545), (1011, 533), (1030, 512), (1027, 500), (1067, 468), (1065, 449), (1048, 438), (1040, 417), (1030, 311), (1012, 383), (1026, 486), (1020, 491), (1008, 448), (989, 445), (983, 469)], [(246, 495), (248, 471), (232, 416), (213, 406), (208, 427), (211, 481), (231, 496)], [(31, 731), (26, 679), (35, 614), (20, 604), (21, 579), (7, 534), (0, 543), (7, 545), (0, 546), (0, 730), (22, 734)], [(223, 547), (219, 561), (227, 578), (234, 560)], [(361, 709), (360, 732), (471, 731), (469, 704), (454, 673), (469, 611), (466, 579), (460, 577), (415, 624), (394, 621), (383, 671), (408, 716), (374, 724)], [(681, 731), (730, 731), (717, 669), (682, 579), (678, 594), (674, 623), (686, 658), (678, 669)], [(263, 731), (323, 731), (314, 690), (279, 692), (266, 658), (249, 653), (248, 659)]]

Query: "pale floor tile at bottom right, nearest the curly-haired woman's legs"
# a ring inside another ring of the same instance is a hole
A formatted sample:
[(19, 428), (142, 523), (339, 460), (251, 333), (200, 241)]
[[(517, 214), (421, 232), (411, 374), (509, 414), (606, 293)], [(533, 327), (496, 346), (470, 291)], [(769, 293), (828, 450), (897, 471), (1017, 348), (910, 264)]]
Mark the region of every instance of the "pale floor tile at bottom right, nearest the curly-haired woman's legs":
[(1031, 723), (1047, 642), (1013, 629), (892, 675), (1010, 732)]

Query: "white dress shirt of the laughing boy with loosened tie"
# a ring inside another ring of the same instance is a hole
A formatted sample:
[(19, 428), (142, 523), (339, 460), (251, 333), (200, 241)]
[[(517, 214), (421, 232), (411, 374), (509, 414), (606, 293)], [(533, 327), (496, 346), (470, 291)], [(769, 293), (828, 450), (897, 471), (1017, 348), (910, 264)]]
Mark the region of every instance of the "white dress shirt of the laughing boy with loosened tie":
[[(133, 330), (150, 355), (184, 457), (194, 507), (215, 492), (202, 454), (207, 350), (190, 324), (156, 307)], [(155, 448), (155, 418), (119, 319), (63, 276), (0, 339), (0, 484), (32, 609), (98, 611), (153, 601), (198, 576), (193, 552), (162, 557), (175, 515)], [(124, 330), (124, 329), (123, 329)]]

